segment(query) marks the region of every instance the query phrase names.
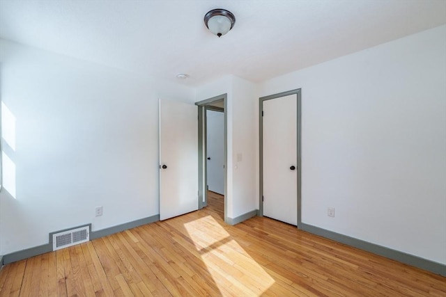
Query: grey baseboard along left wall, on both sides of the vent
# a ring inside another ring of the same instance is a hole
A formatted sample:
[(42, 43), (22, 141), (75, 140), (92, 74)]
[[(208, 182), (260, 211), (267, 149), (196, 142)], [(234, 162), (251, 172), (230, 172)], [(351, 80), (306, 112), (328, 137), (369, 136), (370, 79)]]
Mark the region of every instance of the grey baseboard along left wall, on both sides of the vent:
[[(109, 227), (109, 228), (98, 230), (98, 231), (92, 231), (92, 232), (90, 232), (90, 240), (98, 239), (102, 236), (107, 236), (110, 234), (128, 230), (128, 229), (138, 227), (141, 225), (154, 223), (154, 222), (157, 222), (158, 220), (160, 220), (160, 215), (157, 214), (155, 216), (149, 216), (147, 218), (133, 220), (132, 222), (123, 223), (121, 225), (116, 225), (114, 227)], [(52, 233), (54, 233), (54, 232), (52, 232)], [(26, 250), (19, 250), (18, 252), (11, 252), (8, 255), (3, 255), (3, 259), (2, 259), (3, 262), (0, 262), (0, 264), (3, 265), (3, 264), (17, 262), (22, 259), (27, 259), (29, 257), (34, 257), (37, 255), (45, 254), (46, 252), (52, 252), (52, 250), (53, 250), (53, 243), (50, 241), (49, 243), (44, 244), (43, 246), (27, 248)]]

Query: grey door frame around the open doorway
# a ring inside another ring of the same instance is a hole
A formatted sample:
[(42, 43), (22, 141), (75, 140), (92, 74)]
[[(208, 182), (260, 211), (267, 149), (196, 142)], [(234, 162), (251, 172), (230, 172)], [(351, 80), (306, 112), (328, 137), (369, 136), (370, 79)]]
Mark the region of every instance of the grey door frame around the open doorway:
[(227, 102), (228, 95), (227, 93), (218, 95), (215, 97), (211, 97), (199, 102), (195, 102), (195, 105), (198, 106), (198, 166), (199, 166), (199, 203), (198, 209), (202, 209), (208, 205), (208, 192), (207, 192), (207, 184), (208, 184), (208, 162), (206, 160), (207, 156), (207, 120), (206, 120), (206, 110), (218, 110), (221, 109), (212, 106), (216, 102), (224, 102), (224, 220), (226, 221), (227, 214), (227, 203), (226, 203), (226, 193), (227, 191)]

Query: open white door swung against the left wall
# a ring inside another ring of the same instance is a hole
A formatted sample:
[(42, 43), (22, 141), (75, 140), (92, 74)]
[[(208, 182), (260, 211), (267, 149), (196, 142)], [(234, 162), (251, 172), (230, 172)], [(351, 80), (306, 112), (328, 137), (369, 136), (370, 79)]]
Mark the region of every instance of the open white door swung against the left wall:
[(198, 108), (160, 99), (160, 220), (198, 209)]

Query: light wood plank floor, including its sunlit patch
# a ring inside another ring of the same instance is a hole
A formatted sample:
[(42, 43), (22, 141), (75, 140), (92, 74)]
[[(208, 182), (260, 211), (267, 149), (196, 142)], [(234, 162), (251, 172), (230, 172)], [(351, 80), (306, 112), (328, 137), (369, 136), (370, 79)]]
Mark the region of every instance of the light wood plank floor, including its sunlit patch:
[(184, 216), (8, 264), (0, 296), (446, 296), (446, 278), (268, 218)]

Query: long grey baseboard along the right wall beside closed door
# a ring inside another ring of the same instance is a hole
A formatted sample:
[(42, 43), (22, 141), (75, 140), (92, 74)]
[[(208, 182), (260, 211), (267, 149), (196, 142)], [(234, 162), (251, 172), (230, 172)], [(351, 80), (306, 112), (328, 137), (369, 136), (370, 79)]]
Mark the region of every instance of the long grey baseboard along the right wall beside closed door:
[(360, 239), (355, 239), (350, 236), (332, 232), (329, 230), (322, 229), (313, 225), (307, 225), (302, 223), (302, 230), (316, 234), (340, 243), (344, 243), (348, 246), (353, 246), (355, 248), (360, 248), (361, 250), (367, 250), (367, 252), (373, 252), (376, 255), (380, 255), (389, 259), (397, 260), (398, 262), (415, 266), (418, 268), (431, 271), (443, 276), (446, 276), (446, 265), (433, 262), (427, 259), (423, 259), (417, 256), (406, 254), (405, 252), (399, 252), (398, 250), (392, 250), (391, 248), (385, 248), (384, 246), (378, 246), (374, 243), (369, 243), (367, 241), (362, 241)]

